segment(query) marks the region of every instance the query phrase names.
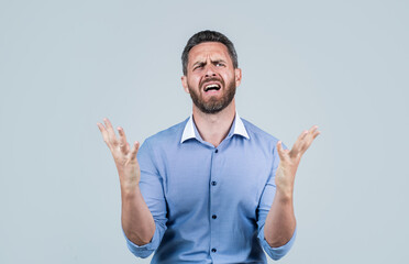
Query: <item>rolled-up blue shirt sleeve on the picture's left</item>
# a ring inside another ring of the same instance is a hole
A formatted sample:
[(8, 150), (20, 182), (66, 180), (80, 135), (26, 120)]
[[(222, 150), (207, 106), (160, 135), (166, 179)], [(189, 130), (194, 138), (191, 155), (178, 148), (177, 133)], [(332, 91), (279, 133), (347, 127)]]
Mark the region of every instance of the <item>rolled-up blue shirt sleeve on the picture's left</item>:
[(163, 179), (155, 165), (148, 140), (146, 140), (137, 152), (137, 162), (141, 168), (140, 188), (142, 196), (154, 218), (155, 233), (150, 243), (136, 245), (130, 241), (123, 232), (128, 249), (137, 257), (150, 256), (161, 244), (162, 238), (166, 231), (166, 201), (164, 197)]

